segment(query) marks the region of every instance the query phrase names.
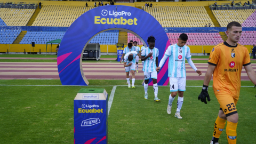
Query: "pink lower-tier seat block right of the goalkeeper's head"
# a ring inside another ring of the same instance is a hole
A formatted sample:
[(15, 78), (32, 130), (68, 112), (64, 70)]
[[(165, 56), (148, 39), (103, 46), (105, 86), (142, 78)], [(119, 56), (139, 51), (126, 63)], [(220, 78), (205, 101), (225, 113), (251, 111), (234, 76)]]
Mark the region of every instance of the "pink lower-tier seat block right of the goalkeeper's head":
[(256, 44), (256, 31), (243, 31), (238, 43), (242, 45)]

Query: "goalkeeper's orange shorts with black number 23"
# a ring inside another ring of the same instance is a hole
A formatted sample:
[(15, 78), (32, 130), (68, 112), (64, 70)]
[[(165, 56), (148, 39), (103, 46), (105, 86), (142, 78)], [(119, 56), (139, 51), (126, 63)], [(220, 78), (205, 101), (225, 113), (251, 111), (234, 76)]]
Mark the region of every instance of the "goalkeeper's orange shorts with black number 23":
[(220, 110), (223, 110), (227, 117), (237, 113), (236, 103), (239, 97), (232, 97), (230, 94), (221, 94), (216, 95), (216, 98), (220, 103)]

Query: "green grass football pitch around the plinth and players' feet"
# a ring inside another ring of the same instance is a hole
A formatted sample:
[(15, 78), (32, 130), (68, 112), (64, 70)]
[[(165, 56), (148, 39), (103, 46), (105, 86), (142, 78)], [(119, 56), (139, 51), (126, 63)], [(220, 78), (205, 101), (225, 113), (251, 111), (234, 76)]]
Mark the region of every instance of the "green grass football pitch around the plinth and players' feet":
[[(106, 89), (108, 98), (116, 86), (108, 116), (108, 143), (210, 143), (219, 111), (212, 87), (211, 101), (205, 105), (197, 99), (203, 81), (187, 81), (183, 119), (177, 119), (178, 97), (171, 115), (166, 113), (170, 87), (159, 86), (161, 102), (154, 102), (153, 87), (148, 87), (145, 100), (141, 82), (128, 89), (126, 80), (90, 80), (88, 88)], [(254, 143), (256, 89), (250, 81), (241, 84), (237, 143)], [(59, 79), (1, 79), (0, 143), (74, 143), (73, 100), (81, 88), (87, 87), (62, 86)], [(219, 143), (228, 143), (226, 130)]]

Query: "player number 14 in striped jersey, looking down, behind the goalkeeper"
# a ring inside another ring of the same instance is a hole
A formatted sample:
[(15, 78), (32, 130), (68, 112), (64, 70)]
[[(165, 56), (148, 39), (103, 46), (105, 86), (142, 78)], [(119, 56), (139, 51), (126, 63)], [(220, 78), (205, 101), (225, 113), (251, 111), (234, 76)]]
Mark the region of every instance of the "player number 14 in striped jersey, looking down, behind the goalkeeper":
[(178, 38), (178, 43), (174, 45), (170, 45), (166, 52), (164, 53), (164, 57), (159, 63), (159, 67), (156, 68), (157, 71), (161, 69), (164, 65), (165, 60), (169, 57), (168, 62), (168, 76), (170, 79), (170, 91), (171, 94), (169, 96), (169, 103), (167, 106), (167, 114), (171, 114), (172, 102), (177, 95), (179, 94), (177, 101), (177, 110), (175, 113), (175, 117), (182, 119), (180, 116), (180, 109), (183, 104), (183, 93), (186, 91), (186, 69), (185, 69), (185, 58), (187, 59), (189, 65), (196, 71), (198, 75), (202, 75), (202, 71), (198, 70), (193, 61), (191, 60), (190, 49), (186, 46), (186, 42), (188, 40), (187, 34), (181, 34)]

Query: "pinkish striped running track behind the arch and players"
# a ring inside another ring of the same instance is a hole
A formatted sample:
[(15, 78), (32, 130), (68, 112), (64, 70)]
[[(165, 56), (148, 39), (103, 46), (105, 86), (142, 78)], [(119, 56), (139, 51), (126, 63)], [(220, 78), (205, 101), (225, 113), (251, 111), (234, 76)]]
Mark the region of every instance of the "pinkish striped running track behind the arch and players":
[[(202, 70), (202, 76), (198, 76), (188, 63), (186, 73), (188, 80), (203, 80), (207, 63), (195, 63)], [(256, 71), (256, 63), (252, 63)], [(139, 73), (136, 79), (143, 79), (142, 66), (139, 63)], [(124, 66), (121, 63), (88, 62), (83, 63), (84, 75), (87, 79), (126, 79)], [(57, 63), (55, 62), (0, 62), (0, 79), (59, 79)], [(243, 68), (241, 80), (250, 80)]]

